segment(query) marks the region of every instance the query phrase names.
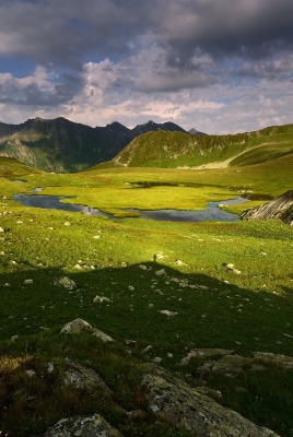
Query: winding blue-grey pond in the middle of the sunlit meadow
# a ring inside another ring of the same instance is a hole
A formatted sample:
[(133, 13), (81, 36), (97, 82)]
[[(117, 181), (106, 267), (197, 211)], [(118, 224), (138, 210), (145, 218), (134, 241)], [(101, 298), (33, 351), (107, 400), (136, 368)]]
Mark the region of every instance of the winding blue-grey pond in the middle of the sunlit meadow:
[[(34, 190), (38, 192), (40, 189)], [(63, 197), (57, 196), (34, 196), (34, 194), (14, 194), (13, 199), (22, 203), (25, 206), (42, 208), (45, 210), (63, 210), (71, 212), (81, 212), (86, 215), (99, 215), (112, 220), (117, 218), (114, 215), (107, 214), (95, 208), (73, 204), (73, 203), (62, 203), (61, 200), (66, 199)], [(237, 222), (239, 216), (232, 214), (230, 212), (223, 211), (219, 205), (233, 205), (247, 202), (247, 199), (238, 197), (236, 199), (225, 200), (222, 202), (210, 202), (206, 210), (190, 210), (190, 211), (179, 211), (179, 210), (133, 210), (127, 209), (122, 210), (126, 212), (138, 212), (142, 218), (152, 218), (156, 221), (169, 221), (169, 222), (206, 222), (206, 221), (220, 221), (220, 222)], [(139, 218), (139, 217), (138, 217)]]

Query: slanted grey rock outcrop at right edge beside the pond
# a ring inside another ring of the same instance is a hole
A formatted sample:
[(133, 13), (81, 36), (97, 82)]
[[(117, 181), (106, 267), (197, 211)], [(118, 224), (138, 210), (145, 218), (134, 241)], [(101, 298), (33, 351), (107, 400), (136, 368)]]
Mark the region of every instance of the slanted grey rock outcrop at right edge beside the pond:
[(293, 190), (284, 192), (279, 198), (262, 206), (244, 211), (243, 220), (280, 218), (289, 225), (293, 225)]

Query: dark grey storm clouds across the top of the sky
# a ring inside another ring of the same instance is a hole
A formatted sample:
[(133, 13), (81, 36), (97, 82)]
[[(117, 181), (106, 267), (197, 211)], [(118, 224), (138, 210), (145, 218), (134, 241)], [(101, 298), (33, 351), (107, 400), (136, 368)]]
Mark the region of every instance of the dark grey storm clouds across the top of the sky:
[[(28, 57), (59, 72), (51, 98), (66, 102), (83, 86), (86, 61), (127, 62), (141, 49), (138, 40), (151, 36), (163, 51), (161, 70), (153, 63), (148, 79), (117, 83), (174, 92), (225, 81), (227, 59), (246, 62), (232, 75), (278, 78), (278, 60), (293, 48), (292, 16), (292, 0), (2, 0), (0, 56)], [(42, 101), (35, 86), (28, 101)]]

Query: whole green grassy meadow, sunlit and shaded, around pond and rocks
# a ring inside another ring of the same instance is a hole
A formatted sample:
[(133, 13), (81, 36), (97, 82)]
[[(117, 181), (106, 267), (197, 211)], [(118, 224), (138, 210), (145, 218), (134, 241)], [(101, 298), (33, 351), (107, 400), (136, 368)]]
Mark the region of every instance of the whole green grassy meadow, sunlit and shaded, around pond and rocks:
[[(177, 363), (195, 347), (292, 356), (290, 226), (274, 220), (159, 222), (124, 211), (200, 210), (210, 201), (243, 196), (248, 202), (225, 208), (239, 215), (292, 189), (292, 153), (279, 156), (271, 149), (260, 157), (254, 150), (234, 164), (58, 175), (0, 157), (0, 430), (37, 436), (69, 414), (98, 411), (126, 436), (185, 436), (166, 424), (127, 422), (125, 411), (141, 406), (136, 385), (143, 363), (160, 357), (163, 367), (188, 378), (192, 368)], [(97, 208), (113, 217), (13, 200), (36, 187), (43, 190), (35, 196), (61, 196), (63, 202)], [(58, 284), (62, 276), (77, 287)], [(94, 303), (95, 296), (109, 302)], [(75, 318), (115, 342), (60, 335), (62, 326)], [(68, 356), (91, 363), (114, 391), (115, 405), (61, 390), (40, 376), (33, 387), (25, 370), (44, 375), (48, 362)], [(271, 369), (241, 381), (223, 377), (213, 387), (222, 390), (224, 405), (281, 436), (293, 436), (292, 381), (292, 371)], [(246, 391), (236, 392), (237, 385)]]

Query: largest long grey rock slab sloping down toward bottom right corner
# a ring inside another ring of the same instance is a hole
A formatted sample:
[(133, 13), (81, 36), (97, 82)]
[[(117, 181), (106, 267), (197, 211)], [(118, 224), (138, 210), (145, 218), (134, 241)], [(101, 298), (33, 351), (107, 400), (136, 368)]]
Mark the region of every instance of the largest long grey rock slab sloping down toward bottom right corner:
[(175, 378), (145, 375), (141, 393), (161, 422), (201, 437), (278, 437)]

